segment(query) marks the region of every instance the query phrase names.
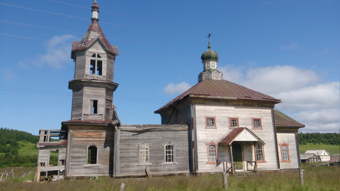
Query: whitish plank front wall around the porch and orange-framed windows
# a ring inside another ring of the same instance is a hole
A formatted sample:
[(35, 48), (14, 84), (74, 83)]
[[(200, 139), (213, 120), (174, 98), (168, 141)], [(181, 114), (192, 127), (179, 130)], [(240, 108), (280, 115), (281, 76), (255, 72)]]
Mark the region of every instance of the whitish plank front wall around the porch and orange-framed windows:
[[(205, 116), (216, 117), (217, 129), (205, 128)], [(246, 127), (256, 134), (265, 142), (265, 159), (267, 163), (259, 163), (259, 170), (277, 170), (274, 130), (271, 108), (255, 108), (255, 107), (227, 107), (227, 106), (206, 106), (195, 104), (195, 123), (197, 131), (197, 153), (198, 153), (198, 172), (219, 172), (223, 171), (223, 166), (219, 164), (206, 164), (207, 162), (207, 146), (206, 143), (213, 141), (218, 142), (223, 139), (230, 131), (228, 117), (238, 117), (239, 127)], [(263, 130), (253, 130), (253, 118), (261, 118)], [(245, 141), (239, 141), (243, 144)], [(243, 144), (244, 165), (245, 161), (254, 161), (255, 156), (252, 142)], [(220, 150), (218, 146), (219, 160), (229, 161), (229, 153), (227, 150)], [(222, 157), (220, 157), (222, 156)], [(228, 156), (228, 157), (225, 157)], [(222, 163), (221, 163), (222, 164)], [(248, 166), (248, 165), (246, 165)], [(251, 167), (249, 167), (251, 168)]]

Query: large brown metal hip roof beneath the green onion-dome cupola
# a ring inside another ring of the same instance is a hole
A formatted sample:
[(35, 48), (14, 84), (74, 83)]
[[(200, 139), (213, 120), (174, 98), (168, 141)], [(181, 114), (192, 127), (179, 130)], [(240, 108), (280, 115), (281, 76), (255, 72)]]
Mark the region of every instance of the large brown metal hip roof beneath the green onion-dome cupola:
[(227, 80), (213, 80), (207, 78), (197, 83), (181, 95), (177, 96), (175, 99), (171, 100), (165, 106), (155, 111), (155, 113), (158, 113), (158, 111), (167, 108), (171, 104), (180, 101), (189, 95), (220, 96), (235, 99), (265, 100), (274, 101), (277, 103), (281, 102), (279, 99), (275, 99), (266, 94), (256, 92), (249, 88), (243, 87), (242, 85), (238, 85)]

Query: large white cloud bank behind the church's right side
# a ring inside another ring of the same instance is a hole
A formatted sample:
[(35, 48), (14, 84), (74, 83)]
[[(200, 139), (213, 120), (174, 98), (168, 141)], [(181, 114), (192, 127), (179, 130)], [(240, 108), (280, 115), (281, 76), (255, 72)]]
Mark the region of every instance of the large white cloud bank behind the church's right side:
[[(275, 109), (306, 125), (300, 131), (339, 133), (339, 109), (320, 109), (339, 108), (339, 96), (331, 99), (339, 94), (339, 81), (324, 82), (316, 72), (289, 65), (248, 69), (244, 73), (241, 68), (229, 66), (220, 70), (225, 80), (281, 99), (283, 102), (276, 104)], [(307, 112), (315, 107), (318, 108), (314, 110), (323, 111)]]

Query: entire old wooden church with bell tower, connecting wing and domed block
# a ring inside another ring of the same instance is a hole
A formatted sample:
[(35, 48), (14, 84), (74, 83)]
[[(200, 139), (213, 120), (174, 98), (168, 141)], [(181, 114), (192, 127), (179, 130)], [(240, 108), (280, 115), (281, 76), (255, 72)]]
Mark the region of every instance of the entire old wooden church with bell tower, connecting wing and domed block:
[(71, 120), (39, 130), (39, 172), (63, 179), (301, 169), (304, 125), (273, 109), (279, 99), (223, 80), (210, 40), (198, 83), (155, 111), (162, 124), (121, 124), (113, 105), (118, 49), (99, 26), (96, 1), (91, 8), (87, 32), (72, 43)]

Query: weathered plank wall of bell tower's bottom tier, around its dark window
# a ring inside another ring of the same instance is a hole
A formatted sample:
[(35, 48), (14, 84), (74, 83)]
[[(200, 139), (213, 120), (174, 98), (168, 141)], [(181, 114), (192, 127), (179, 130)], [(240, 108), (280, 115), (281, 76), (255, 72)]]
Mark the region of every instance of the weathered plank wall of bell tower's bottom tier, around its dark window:
[[(97, 164), (87, 164), (87, 147), (98, 148)], [(113, 173), (114, 132), (73, 131), (70, 143), (69, 176), (102, 176)]]

